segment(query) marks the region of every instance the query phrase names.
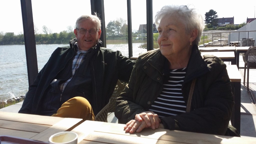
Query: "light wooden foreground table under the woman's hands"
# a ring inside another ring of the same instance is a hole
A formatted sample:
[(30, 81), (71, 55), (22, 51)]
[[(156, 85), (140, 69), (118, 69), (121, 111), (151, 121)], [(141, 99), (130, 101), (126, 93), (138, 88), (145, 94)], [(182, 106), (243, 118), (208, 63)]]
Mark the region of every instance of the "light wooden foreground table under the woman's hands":
[(177, 130), (144, 129), (140, 133), (126, 133), (124, 124), (107, 123), (99, 121), (85, 121), (73, 130), (78, 133), (78, 143), (172, 143), (172, 144), (255, 144), (256, 138), (241, 138), (209, 135), (203, 133), (185, 132)]

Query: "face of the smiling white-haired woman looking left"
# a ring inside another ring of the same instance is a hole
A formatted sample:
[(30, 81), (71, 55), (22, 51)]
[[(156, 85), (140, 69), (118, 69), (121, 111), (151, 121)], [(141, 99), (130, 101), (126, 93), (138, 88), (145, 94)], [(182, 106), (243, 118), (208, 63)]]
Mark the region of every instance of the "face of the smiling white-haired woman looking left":
[(190, 35), (183, 21), (174, 15), (163, 17), (158, 26), (157, 39), (160, 51), (166, 58), (179, 56), (189, 51)]

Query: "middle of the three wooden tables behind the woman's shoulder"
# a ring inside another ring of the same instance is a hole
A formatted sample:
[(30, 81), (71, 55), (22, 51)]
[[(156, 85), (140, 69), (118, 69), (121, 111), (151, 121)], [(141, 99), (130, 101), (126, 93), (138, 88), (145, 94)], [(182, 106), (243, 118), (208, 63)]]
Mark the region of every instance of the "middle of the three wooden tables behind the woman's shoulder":
[(223, 61), (231, 61), (231, 65), (236, 64), (235, 52), (201, 52), (201, 56), (206, 54), (217, 56)]

